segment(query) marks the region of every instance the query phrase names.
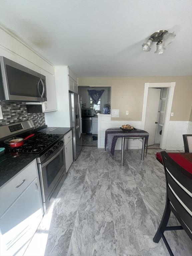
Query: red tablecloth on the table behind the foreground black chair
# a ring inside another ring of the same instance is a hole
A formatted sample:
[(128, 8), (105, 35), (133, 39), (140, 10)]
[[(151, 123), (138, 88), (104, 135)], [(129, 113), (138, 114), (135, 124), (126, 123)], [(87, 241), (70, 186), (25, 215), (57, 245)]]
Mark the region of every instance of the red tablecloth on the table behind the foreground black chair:
[[(177, 164), (192, 174), (192, 153), (167, 153)], [(161, 153), (156, 153), (157, 160), (163, 164)]]

